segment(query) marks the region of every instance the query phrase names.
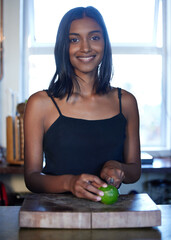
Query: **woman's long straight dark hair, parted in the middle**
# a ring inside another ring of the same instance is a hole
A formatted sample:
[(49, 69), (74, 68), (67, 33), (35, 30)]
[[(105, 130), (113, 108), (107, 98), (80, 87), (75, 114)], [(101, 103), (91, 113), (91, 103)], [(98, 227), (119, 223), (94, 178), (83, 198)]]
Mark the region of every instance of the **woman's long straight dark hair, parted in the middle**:
[(95, 91), (96, 93), (106, 93), (110, 89), (112, 52), (103, 17), (94, 7), (77, 7), (63, 16), (58, 28), (54, 49), (56, 72), (48, 89), (49, 94), (55, 97), (63, 98), (67, 95), (69, 98), (73, 92), (73, 81), (79, 86), (69, 58), (69, 31), (72, 21), (85, 16), (94, 19), (100, 25), (105, 42), (103, 59), (98, 67), (94, 83)]

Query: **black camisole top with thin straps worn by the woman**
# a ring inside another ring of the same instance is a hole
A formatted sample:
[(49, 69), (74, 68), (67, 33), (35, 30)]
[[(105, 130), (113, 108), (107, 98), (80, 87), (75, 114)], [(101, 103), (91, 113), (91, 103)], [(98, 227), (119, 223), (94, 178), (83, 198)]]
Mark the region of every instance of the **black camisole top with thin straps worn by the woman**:
[(106, 161), (124, 162), (123, 148), (126, 118), (122, 114), (121, 89), (118, 88), (120, 112), (102, 120), (85, 120), (62, 115), (44, 134), (43, 173), (50, 175), (89, 173), (100, 176)]

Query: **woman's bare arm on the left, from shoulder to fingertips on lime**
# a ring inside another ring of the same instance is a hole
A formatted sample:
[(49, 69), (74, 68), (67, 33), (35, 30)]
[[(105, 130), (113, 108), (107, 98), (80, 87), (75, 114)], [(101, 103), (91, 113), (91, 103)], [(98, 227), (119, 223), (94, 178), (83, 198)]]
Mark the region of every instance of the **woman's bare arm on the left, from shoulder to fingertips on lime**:
[(52, 176), (42, 173), (43, 135), (49, 104), (51, 102), (44, 92), (32, 95), (27, 102), (24, 116), (24, 177), (27, 188), (37, 193), (70, 191), (77, 197), (99, 201), (102, 192), (97, 186), (105, 186), (105, 183), (97, 176), (89, 174)]

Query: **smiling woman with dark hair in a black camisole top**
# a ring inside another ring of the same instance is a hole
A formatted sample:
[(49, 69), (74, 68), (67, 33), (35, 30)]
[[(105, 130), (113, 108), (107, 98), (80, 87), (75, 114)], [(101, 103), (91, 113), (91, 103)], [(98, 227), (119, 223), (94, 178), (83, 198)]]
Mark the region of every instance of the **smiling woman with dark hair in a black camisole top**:
[(26, 186), (100, 201), (100, 186), (137, 181), (141, 164), (136, 99), (110, 86), (111, 46), (95, 8), (64, 15), (55, 61), (49, 89), (32, 95), (25, 111)]

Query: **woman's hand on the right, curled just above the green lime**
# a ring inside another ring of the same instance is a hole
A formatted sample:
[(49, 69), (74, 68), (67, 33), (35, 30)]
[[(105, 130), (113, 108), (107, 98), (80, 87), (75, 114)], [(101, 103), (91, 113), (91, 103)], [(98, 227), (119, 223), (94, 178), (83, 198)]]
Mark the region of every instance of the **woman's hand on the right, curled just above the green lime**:
[(108, 184), (119, 188), (125, 178), (122, 163), (114, 160), (106, 162), (101, 170), (100, 177)]

